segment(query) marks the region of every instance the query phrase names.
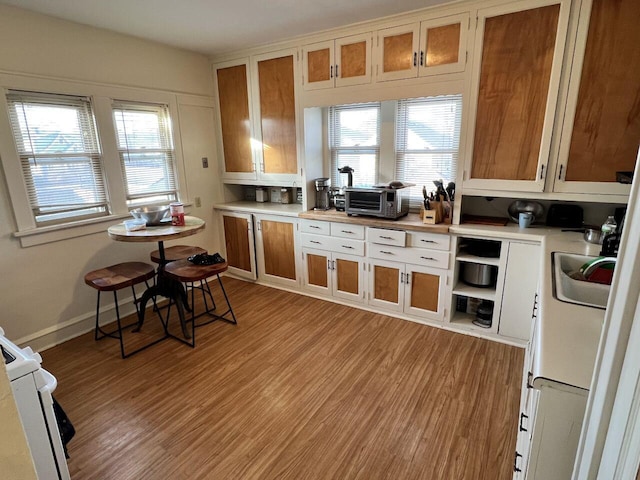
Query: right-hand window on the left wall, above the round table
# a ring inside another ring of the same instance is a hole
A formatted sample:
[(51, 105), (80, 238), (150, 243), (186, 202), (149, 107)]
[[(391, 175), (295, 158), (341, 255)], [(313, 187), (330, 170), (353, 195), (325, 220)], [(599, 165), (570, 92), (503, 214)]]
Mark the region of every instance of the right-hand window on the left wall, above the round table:
[(136, 206), (177, 200), (168, 107), (116, 102), (113, 118), (127, 204)]

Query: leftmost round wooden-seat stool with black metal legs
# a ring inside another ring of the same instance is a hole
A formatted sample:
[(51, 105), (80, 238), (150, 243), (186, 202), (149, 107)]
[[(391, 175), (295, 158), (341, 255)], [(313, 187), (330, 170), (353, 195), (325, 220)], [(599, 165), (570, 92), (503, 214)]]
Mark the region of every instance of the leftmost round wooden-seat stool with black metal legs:
[[(105, 337), (117, 338), (120, 340), (120, 354), (122, 358), (127, 358), (134, 353), (144, 350), (161, 340), (164, 340), (166, 336), (154, 340), (153, 342), (138, 348), (133, 352), (126, 353), (124, 348), (124, 339), (122, 335), (122, 324), (120, 321), (120, 310), (118, 308), (118, 290), (122, 290), (126, 287), (131, 287), (133, 292), (133, 303), (138, 311), (138, 299), (136, 297), (136, 291), (134, 286), (144, 282), (147, 288), (149, 288), (148, 280), (155, 275), (155, 268), (153, 265), (144, 262), (125, 262), (118, 263), (117, 265), (111, 265), (110, 267), (101, 268), (99, 270), (93, 270), (84, 276), (84, 282), (90, 287), (98, 290), (98, 300), (96, 302), (96, 329), (95, 340), (101, 340)], [(113, 292), (113, 300), (116, 306), (116, 321), (118, 324), (117, 330), (106, 332), (100, 326), (100, 293), (101, 292)], [(155, 301), (154, 301), (155, 303)], [(137, 325), (138, 322), (131, 325), (125, 325), (124, 328), (128, 328), (133, 325)], [(166, 330), (166, 327), (165, 327)], [(134, 330), (135, 331), (135, 330)]]

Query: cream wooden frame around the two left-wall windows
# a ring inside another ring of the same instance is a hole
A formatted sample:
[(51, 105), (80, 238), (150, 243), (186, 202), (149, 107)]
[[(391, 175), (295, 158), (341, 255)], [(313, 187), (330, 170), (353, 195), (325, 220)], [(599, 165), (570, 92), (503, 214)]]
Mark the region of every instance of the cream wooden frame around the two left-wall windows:
[[(102, 147), (106, 188), (111, 202), (109, 215), (56, 225), (36, 225), (29, 206), (27, 187), (22, 175), (20, 160), (9, 122), (6, 98), (9, 90), (86, 96), (92, 99), (98, 137)], [(130, 207), (127, 206), (125, 201), (122, 171), (119, 164), (112, 119), (111, 105), (113, 99), (116, 98), (123, 101), (168, 105), (174, 141), (178, 195), (180, 201), (185, 205), (189, 204), (186, 184), (184, 183), (185, 165), (182, 155), (178, 105), (193, 101), (191, 96), (138, 87), (79, 83), (0, 72), (0, 162), (2, 163), (8, 197), (13, 210), (12, 226), (9, 229), (13, 231), (13, 236), (19, 239), (22, 247), (42, 245), (94, 233), (104, 233), (109, 225), (130, 217)]]

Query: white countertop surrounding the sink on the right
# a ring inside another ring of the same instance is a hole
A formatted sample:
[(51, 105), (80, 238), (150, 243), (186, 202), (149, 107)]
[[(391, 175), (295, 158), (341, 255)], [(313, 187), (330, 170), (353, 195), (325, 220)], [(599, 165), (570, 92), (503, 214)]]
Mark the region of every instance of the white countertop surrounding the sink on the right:
[(588, 390), (604, 321), (603, 309), (561, 302), (553, 295), (552, 252), (597, 256), (600, 245), (587, 243), (581, 233), (548, 235), (542, 242), (538, 332), (533, 385), (546, 381)]

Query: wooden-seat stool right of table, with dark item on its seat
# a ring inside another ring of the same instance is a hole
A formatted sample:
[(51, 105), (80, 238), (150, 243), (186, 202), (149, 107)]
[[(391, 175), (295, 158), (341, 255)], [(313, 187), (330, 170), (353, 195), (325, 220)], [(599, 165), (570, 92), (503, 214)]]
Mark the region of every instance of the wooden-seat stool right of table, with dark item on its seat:
[[(196, 335), (195, 329), (196, 327), (202, 327), (203, 325), (207, 325), (216, 320), (223, 320), (228, 323), (233, 323), (234, 325), (238, 322), (236, 321), (236, 316), (233, 313), (233, 309), (231, 308), (231, 303), (229, 302), (229, 297), (227, 296), (227, 292), (224, 289), (224, 285), (222, 284), (222, 278), (220, 278), (220, 274), (227, 271), (227, 262), (224, 263), (216, 263), (213, 265), (195, 265), (188, 260), (178, 260), (175, 262), (167, 263), (165, 266), (165, 275), (169, 278), (177, 280), (179, 282), (187, 284), (187, 286), (191, 287), (191, 343), (185, 342), (192, 347), (195, 347), (196, 344)], [(211, 288), (207, 283), (206, 279), (213, 277), (218, 277), (218, 283), (220, 284), (220, 289), (222, 290), (222, 294), (224, 295), (224, 299), (227, 302), (227, 310), (222, 314), (215, 313), (217, 307), (216, 303), (213, 299), (213, 295), (211, 293)], [(200, 282), (200, 286), (197, 287), (195, 282)], [(204, 300), (205, 310), (198, 315), (195, 313), (195, 303), (194, 303), (194, 291), (202, 290), (202, 298)], [(209, 303), (207, 302), (207, 296), (211, 300), (211, 307), (209, 307)], [(171, 310), (171, 302), (169, 303), (169, 310)], [(228, 315), (231, 317), (228, 317)], [(208, 315), (212, 318), (209, 320), (196, 324), (196, 319), (202, 317), (203, 315)], [(167, 314), (167, 320), (169, 318), (169, 314)]]

